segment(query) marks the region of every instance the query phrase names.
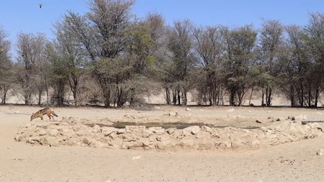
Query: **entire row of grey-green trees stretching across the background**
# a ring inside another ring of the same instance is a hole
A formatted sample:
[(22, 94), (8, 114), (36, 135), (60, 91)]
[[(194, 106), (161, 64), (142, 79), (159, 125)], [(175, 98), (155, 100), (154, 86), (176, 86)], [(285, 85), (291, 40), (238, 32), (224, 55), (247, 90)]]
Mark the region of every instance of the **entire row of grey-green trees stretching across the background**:
[(121, 107), (141, 103), (160, 87), (174, 105), (186, 105), (190, 90), (197, 90), (201, 104), (222, 105), (226, 97), (230, 105), (242, 105), (252, 90), (262, 93), (266, 106), (274, 92), (291, 106), (318, 106), (324, 14), (310, 13), (305, 26), (264, 20), (260, 30), (195, 26), (188, 19), (169, 26), (158, 13), (136, 18), (133, 5), (92, 0), (86, 14), (66, 12), (55, 23), (55, 39), (18, 34), (18, 57), (10, 57), (8, 34), (0, 28), (0, 101), (19, 90), (26, 105), (36, 96), (39, 105), (46, 99), (61, 106), (71, 92), (75, 105)]

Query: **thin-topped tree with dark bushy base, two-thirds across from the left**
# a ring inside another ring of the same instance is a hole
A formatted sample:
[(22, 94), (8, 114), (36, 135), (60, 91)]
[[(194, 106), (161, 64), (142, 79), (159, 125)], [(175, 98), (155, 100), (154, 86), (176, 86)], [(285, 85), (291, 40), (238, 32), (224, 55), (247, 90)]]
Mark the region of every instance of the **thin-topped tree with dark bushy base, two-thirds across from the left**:
[(205, 81), (199, 81), (198, 90), (201, 97), (209, 101), (209, 105), (219, 105), (222, 97), (220, 70), (222, 66), (224, 39), (219, 27), (195, 28), (195, 50), (199, 55), (201, 74)]

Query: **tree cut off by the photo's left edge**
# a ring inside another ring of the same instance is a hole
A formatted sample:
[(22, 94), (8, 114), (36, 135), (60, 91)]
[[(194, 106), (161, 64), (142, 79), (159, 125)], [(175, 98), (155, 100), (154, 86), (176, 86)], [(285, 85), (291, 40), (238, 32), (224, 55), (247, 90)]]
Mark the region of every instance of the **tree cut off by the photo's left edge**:
[(10, 57), (10, 41), (8, 34), (0, 26), (0, 99), (5, 104), (8, 97), (8, 91), (12, 88), (13, 65)]

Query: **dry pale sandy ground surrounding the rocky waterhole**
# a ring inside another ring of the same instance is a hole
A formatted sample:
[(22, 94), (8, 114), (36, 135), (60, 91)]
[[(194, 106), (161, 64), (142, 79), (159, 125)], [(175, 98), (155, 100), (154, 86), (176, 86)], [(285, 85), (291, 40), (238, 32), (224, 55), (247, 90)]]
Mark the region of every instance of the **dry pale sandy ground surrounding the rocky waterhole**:
[[(323, 110), (291, 108), (191, 108), (162, 106), (159, 110), (54, 108), (62, 117), (125, 119), (124, 115), (161, 117), (168, 110), (188, 122), (219, 125), (267, 125), (255, 119), (307, 115), (324, 119)], [(17, 128), (30, 123), (35, 107), (0, 106), (0, 181), (324, 181), (324, 136), (253, 151), (111, 150), (48, 147), (14, 140)], [(59, 118), (59, 119), (60, 119)], [(46, 122), (46, 121), (44, 121)], [(134, 156), (141, 156), (133, 160)]]

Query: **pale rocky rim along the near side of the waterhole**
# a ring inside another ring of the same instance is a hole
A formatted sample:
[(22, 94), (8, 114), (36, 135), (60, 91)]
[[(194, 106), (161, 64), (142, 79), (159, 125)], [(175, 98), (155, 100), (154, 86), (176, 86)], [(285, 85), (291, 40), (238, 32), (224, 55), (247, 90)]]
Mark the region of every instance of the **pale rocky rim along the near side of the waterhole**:
[(191, 126), (181, 130), (126, 126), (118, 129), (84, 125), (73, 119), (35, 122), (19, 128), (15, 140), (35, 145), (80, 145), (93, 148), (144, 150), (246, 150), (269, 148), (281, 143), (312, 139), (320, 134), (318, 124), (285, 121), (260, 129)]

